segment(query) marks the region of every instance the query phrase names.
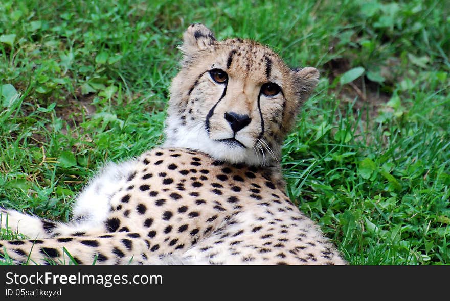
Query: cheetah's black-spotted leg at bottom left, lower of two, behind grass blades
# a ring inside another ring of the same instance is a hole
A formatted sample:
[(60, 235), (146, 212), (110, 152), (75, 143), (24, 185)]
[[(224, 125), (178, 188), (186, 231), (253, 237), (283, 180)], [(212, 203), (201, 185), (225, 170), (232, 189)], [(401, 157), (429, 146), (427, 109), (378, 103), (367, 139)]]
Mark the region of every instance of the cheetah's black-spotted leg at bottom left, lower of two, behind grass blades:
[(138, 233), (108, 233), (23, 241), (0, 240), (0, 258), (15, 264), (146, 264), (150, 242)]

